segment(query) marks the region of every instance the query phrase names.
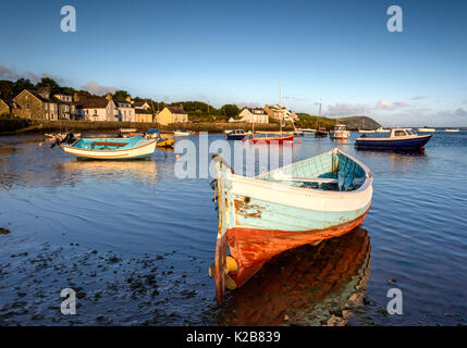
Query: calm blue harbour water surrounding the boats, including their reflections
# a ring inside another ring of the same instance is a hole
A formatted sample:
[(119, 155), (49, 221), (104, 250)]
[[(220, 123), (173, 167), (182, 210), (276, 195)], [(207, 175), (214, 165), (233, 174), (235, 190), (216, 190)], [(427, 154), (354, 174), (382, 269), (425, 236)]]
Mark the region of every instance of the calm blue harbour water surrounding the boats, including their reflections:
[[(210, 179), (176, 178), (173, 151), (88, 162), (40, 135), (0, 137), (0, 324), (465, 324), (467, 132), (435, 133), (425, 154), (357, 151), (356, 136), (297, 138), (293, 156), (337, 146), (372, 170), (361, 227), (281, 254), (221, 309)], [(76, 315), (60, 313), (66, 287)], [(402, 315), (385, 312), (391, 287)]]

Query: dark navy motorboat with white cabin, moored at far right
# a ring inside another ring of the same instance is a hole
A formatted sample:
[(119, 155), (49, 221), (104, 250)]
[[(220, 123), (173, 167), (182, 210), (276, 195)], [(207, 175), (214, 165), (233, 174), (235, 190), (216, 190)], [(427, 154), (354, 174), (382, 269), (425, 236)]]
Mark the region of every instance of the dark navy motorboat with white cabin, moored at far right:
[(357, 149), (419, 150), (430, 140), (430, 135), (418, 135), (411, 128), (392, 128), (389, 137), (362, 136), (355, 140)]

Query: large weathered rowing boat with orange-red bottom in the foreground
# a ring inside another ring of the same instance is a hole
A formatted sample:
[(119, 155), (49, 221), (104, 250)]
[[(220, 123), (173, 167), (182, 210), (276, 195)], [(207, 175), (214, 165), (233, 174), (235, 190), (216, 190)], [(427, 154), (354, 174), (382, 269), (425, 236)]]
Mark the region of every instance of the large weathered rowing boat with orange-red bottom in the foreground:
[(213, 160), (219, 231), (210, 275), (219, 304), (225, 287), (241, 287), (272, 257), (351, 232), (371, 206), (372, 173), (339, 149), (254, 178)]

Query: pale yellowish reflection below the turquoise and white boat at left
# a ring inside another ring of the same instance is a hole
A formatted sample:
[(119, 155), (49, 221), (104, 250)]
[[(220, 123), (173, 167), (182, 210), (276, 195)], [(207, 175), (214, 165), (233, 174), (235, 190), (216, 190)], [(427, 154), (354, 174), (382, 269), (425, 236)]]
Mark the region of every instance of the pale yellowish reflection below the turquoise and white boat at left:
[(72, 161), (60, 166), (71, 181), (157, 183), (155, 161)]

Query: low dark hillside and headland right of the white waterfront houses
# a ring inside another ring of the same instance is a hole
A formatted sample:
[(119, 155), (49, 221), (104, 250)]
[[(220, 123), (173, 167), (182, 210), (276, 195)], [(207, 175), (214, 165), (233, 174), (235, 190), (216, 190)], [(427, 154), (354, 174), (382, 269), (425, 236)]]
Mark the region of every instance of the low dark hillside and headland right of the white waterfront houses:
[[(307, 113), (297, 113), (297, 116), (300, 121), (297, 122), (298, 127), (310, 127), (316, 128), (317, 127), (317, 116), (309, 115)], [(329, 119), (329, 117), (319, 117), (319, 126), (325, 127), (327, 129), (331, 129), (332, 126), (335, 124), (335, 119)], [(343, 117), (339, 119), (339, 122), (345, 124), (351, 129), (358, 129), (358, 128), (371, 128), (376, 129), (381, 127), (381, 125), (376, 122), (374, 120), (367, 117), (367, 116), (351, 116), (351, 117)]]

